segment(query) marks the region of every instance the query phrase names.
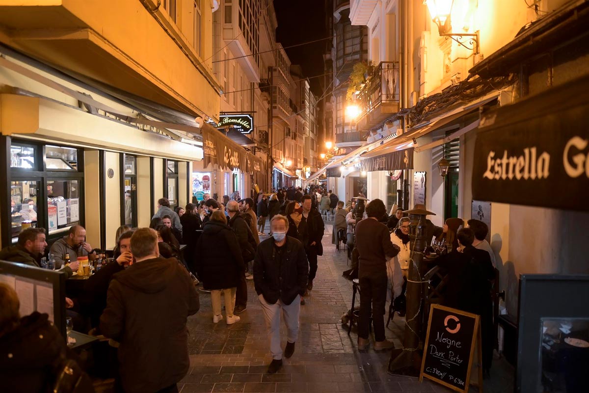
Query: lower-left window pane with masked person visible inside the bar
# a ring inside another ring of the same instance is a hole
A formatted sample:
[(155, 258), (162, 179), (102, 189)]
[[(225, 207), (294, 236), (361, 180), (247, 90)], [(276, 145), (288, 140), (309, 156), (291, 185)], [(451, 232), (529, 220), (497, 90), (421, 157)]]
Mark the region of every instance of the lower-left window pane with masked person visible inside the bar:
[(22, 229), (37, 226), (37, 181), (11, 181), (11, 233), (17, 237)]

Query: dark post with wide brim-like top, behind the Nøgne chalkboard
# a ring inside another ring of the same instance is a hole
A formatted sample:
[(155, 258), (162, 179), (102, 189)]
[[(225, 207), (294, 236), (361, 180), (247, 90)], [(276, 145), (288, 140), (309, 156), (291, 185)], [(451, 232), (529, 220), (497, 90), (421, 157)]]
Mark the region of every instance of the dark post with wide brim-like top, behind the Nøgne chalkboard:
[(406, 210), (403, 213), (409, 214), (411, 229), (411, 259), (409, 261), (409, 272), (407, 287), (405, 290), (406, 308), (405, 313), (405, 335), (403, 336), (403, 348), (393, 349), (389, 359), (388, 372), (395, 375), (419, 376), (421, 369), (421, 355), (423, 349), (419, 348), (419, 337), (422, 329), (423, 307), (425, 305), (425, 285), (423, 280), (423, 251), (426, 245), (426, 222), (425, 216), (435, 213), (425, 209)]

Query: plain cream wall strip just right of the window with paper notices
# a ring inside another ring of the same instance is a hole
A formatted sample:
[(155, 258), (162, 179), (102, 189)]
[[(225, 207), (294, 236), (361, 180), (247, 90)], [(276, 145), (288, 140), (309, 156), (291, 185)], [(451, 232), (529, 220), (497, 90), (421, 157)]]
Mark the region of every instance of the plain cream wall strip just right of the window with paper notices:
[(98, 150), (84, 151), (84, 209), (86, 240), (100, 247), (100, 163)]

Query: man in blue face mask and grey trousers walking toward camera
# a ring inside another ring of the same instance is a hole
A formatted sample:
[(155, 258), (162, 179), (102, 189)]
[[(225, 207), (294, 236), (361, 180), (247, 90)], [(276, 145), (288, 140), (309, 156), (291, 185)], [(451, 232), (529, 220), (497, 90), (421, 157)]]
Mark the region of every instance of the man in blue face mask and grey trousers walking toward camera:
[(290, 358), (294, 353), (294, 342), (299, 334), (300, 296), (305, 293), (309, 263), (302, 243), (286, 236), (289, 228), (286, 217), (280, 214), (274, 216), (270, 228), (272, 237), (257, 248), (254, 286), (269, 330), (272, 363), (268, 372), (273, 374), (282, 366), (280, 309), (284, 313), (287, 330), (284, 357)]

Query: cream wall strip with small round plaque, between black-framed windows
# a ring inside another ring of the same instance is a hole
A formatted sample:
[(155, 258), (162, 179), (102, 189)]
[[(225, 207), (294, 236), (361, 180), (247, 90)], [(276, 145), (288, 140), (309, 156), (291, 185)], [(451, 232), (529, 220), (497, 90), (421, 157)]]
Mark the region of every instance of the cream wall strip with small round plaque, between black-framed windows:
[[(108, 170), (114, 171), (112, 179), (108, 177)], [(115, 234), (121, 225), (121, 176), (120, 176), (120, 153), (112, 151), (104, 152), (104, 188), (105, 188), (105, 217), (106, 217), (106, 239), (105, 246), (112, 249), (116, 245)]]

